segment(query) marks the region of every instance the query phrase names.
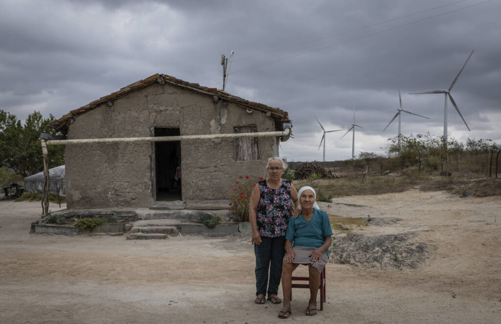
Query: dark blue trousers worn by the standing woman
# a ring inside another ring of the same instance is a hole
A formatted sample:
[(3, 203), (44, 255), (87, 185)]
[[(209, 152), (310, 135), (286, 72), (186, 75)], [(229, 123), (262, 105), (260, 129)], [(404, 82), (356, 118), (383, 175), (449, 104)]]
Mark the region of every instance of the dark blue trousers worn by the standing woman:
[[(261, 244), (254, 244), (256, 254), (256, 296), (277, 295), (282, 278), (282, 262), (285, 255), (285, 237), (261, 236)], [(270, 280), (268, 280), (270, 270)], [(268, 288), (268, 289), (267, 289)]]

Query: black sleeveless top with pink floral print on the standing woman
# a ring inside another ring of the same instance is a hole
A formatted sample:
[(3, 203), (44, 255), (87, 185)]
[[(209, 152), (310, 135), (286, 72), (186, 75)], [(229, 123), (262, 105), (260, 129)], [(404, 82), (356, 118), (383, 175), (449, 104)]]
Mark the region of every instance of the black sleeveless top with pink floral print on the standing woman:
[(268, 187), (266, 180), (259, 184), (258, 231), (265, 237), (285, 237), (291, 217), (291, 183), (282, 179), (277, 189)]

